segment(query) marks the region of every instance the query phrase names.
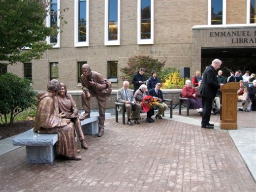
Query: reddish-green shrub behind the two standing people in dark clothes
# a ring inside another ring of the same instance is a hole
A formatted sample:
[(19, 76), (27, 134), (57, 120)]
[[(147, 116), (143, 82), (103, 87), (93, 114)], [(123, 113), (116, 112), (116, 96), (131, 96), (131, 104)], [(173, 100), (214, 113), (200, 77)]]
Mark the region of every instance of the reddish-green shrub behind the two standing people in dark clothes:
[(140, 68), (145, 68), (145, 76), (149, 78), (151, 76), (151, 71), (154, 69), (157, 72), (161, 71), (165, 65), (166, 60), (159, 61), (158, 59), (153, 59), (151, 56), (136, 55), (128, 58), (126, 67), (121, 68), (121, 72), (124, 74), (120, 76), (122, 81), (128, 80), (131, 82), (134, 73), (138, 72)]

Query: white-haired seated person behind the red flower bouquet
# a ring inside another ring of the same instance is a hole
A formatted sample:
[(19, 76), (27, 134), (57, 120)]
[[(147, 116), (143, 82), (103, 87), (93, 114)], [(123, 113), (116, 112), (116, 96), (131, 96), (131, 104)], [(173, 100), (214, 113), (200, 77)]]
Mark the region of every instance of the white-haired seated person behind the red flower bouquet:
[[(136, 100), (136, 103), (139, 103), (141, 104), (141, 101), (143, 100), (144, 96), (146, 96), (147, 92), (147, 86), (142, 84), (139, 89), (135, 92), (134, 94), (134, 98)], [(142, 109), (142, 106), (141, 106), (141, 109)], [(150, 109), (148, 112), (147, 112), (147, 119), (146, 119), (146, 122), (148, 123), (153, 123), (155, 122), (153, 119), (152, 119), (152, 115), (154, 115), (154, 109)]]

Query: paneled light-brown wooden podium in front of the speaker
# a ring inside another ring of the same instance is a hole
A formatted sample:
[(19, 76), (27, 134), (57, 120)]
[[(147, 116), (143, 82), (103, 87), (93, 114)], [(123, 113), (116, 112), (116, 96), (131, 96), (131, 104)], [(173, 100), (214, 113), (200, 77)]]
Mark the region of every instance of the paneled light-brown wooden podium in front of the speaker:
[(237, 129), (237, 90), (239, 87), (238, 82), (226, 83), (221, 86), (221, 129)]

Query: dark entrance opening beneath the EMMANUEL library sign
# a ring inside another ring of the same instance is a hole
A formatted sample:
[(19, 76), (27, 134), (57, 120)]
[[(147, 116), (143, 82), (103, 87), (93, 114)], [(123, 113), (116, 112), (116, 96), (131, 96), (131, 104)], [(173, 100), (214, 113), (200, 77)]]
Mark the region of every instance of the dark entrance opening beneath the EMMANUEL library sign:
[(202, 48), (201, 72), (216, 58), (223, 61), (220, 70), (225, 77), (229, 76), (229, 72), (224, 67), (232, 71), (241, 70), (243, 74), (247, 70), (250, 74), (256, 73), (256, 48)]

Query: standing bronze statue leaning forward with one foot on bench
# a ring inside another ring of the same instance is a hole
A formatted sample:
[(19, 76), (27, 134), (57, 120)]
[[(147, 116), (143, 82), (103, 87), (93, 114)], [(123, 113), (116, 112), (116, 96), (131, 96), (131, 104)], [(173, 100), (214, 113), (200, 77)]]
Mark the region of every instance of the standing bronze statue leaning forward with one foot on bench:
[(99, 114), (98, 137), (101, 137), (104, 133), (106, 99), (112, 91), (111, 83), (107, 79), (104, 79), (99, 72), (92, 71), (89, 64), (83, 64), (82, 71), (82, 106), (85, 113), (79, 119), (84, 120), (90, 118), (90, 99), (91, 96), (96, 96)]

